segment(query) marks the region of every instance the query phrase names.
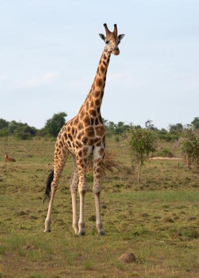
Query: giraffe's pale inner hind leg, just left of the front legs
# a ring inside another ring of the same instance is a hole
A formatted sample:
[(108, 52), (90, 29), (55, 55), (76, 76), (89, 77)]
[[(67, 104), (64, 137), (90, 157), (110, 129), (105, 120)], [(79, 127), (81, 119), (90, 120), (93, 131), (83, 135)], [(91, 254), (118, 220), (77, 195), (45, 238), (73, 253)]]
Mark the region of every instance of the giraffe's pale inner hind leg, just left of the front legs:
[(71, 181), (71, 198), (72, 198), (72, 206), (73, 206), (73, 228), (75, 230), (75, 233), (77, 234), (79, 231), (78, 227), (78, 215), (77, 215), (77, 189), (78, 189), (78, 183), (79, 183), (79, 174), (78, 174), (78, 168), (76, 163), (76, 157), (73, 155), (73, 162), (74, 162), (74, 170), (72, 174), (72, 181)]

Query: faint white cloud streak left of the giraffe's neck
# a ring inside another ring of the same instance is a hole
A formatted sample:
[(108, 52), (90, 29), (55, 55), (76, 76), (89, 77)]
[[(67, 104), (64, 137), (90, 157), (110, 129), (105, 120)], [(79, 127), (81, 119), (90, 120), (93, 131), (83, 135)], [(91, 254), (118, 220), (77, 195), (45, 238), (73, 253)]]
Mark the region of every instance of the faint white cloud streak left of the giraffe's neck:
[(45, 85), (55, 81), (59, 77), (58, 72), (46, 72), (43, 76), (38, 78), (31, 78), (27, 80), (26, 85), (28, 87), (34, 87), (38, 85)]

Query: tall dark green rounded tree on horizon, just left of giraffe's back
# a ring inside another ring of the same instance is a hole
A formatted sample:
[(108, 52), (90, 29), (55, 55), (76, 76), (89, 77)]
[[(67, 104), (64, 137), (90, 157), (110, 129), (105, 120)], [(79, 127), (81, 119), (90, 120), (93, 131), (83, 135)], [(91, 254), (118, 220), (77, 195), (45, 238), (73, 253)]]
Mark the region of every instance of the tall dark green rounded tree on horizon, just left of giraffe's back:
[(54, 114), (51, 119), (47, 120), (44, 127), (47, 133), (53, 137), (57, 137), (66, 122), (65, 117), (67, 117), (67, 114), (65, 112), (60, 112)]

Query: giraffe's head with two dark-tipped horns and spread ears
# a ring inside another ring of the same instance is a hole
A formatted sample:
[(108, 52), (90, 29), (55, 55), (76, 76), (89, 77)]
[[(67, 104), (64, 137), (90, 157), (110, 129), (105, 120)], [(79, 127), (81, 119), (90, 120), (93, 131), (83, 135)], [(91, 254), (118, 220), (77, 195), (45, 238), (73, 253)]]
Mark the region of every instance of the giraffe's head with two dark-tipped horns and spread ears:
[(106, 32), (106, 36), (103, 34), (99, 34), (100, 38), (105, 42), (106, 50), (111, 52), (114, 55), (119, 55), (119, 48), (118, 44), (120, 43), (121, 39), (123, 39), (124, 34), (117, 35), (117, 24), (114, 24), (113, 32), (110, 32), (106, 23), (103, 24)]

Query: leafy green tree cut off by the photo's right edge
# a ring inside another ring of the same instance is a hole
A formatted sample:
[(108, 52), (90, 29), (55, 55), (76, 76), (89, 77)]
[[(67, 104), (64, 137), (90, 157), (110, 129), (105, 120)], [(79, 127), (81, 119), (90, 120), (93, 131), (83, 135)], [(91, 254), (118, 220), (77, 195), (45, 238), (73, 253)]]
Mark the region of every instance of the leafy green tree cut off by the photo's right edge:
[(187, 156), (188, 166), (191, 167), (193, 163), (199, 170), (199, 130), (188, 127), (184, 130), (182, 138), (180, 139), (182, 151)]

